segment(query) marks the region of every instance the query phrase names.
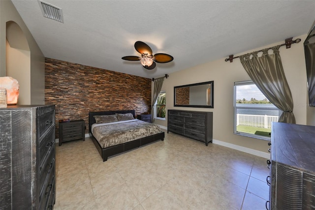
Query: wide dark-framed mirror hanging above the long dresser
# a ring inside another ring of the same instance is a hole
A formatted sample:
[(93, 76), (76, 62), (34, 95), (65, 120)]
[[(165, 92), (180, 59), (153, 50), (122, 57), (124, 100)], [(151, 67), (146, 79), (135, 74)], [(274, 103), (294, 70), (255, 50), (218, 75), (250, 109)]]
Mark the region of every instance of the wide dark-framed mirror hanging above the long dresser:
[(213, 81), (174, 87), (174, 106), (213, 108)]

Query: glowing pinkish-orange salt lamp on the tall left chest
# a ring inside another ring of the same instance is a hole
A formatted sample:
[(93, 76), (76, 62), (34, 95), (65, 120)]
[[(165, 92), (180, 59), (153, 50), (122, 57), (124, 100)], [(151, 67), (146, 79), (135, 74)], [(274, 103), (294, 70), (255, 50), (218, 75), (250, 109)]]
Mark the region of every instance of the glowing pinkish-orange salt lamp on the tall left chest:
[(19, 82), (18, 80), (10, 77), (0, 77), (0, 88), (6, 89), (6, 103), (8, 105), (16, 105), (19, 98)]

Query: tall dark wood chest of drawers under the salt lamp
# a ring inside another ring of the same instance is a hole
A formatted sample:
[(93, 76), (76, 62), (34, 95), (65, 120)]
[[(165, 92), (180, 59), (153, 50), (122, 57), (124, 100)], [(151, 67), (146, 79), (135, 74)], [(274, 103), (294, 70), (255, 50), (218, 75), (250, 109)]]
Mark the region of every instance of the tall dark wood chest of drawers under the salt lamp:
[(0, 108), (0, 209), (55, 203), (55, 105)]

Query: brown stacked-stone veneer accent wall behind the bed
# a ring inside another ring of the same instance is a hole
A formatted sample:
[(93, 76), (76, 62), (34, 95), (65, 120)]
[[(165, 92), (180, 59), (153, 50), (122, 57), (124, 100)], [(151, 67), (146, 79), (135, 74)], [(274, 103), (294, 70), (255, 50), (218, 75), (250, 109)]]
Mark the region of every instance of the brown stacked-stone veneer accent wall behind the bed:
[(56, 138), (60, 119), (84, 119), (89, 133), (89, 111), (150, 112), (151, 83), (149, 78), (46, 58), (45, 104), (56, 105)]

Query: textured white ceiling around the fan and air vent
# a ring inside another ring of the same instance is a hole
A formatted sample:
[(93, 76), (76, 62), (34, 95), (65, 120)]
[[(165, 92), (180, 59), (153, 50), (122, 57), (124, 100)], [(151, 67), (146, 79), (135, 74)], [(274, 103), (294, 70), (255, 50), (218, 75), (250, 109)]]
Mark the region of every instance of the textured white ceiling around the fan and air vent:
[[(43, 17), (37, 0), (12, 0), (47, 58), (152, 78), (307, 34), (314, 0), (44, 0), (64, 23)], [(144, 69), (135, 41), (174, 60)], [(303, 41), (303, 40), (302, 40)]]

